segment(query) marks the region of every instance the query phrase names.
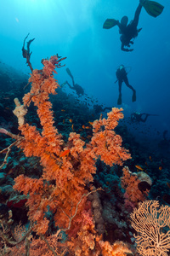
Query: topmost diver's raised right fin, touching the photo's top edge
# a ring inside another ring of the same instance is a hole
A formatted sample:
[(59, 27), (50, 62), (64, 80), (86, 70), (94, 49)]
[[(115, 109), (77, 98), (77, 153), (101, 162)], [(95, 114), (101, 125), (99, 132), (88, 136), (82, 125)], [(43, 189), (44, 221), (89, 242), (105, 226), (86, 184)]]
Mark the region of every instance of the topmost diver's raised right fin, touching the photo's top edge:
[(140, 3), (146, 10), (146, 12), (152, 16), (157, 17), (161, 15), (162, 10), (164, 9), (164, 6), (162, 6), (160, 3), (157, 3), (155, 1), (149, 1), (149, 0), (140, 0)]

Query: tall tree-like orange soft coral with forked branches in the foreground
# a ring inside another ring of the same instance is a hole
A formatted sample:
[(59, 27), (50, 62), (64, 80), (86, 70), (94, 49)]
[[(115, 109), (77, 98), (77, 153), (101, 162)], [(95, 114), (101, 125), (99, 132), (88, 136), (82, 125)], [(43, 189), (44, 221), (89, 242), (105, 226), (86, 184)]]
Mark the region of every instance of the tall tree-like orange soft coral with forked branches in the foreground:
[(130, 158), (127, 150), (122, 148), (122, 138), (114, 131), (123, 114), (122, 109), (112, 108), (107, 119), (95, 120), (94, 136), (89, 143), (84, 143), (76, 132), (71, 132), (65, 143), (54, 127), (52, 104), (49, 102), (49, 94), (56, 94), (55, 90), (59, 87), (54, 79), (59, 61), (57, 55), (49, 60), (42, 60), (42, 70), (33, 70), (31, 73), (31, 90), (23, 97), (23, 105), (18, 104), (16, 107), (21, 107), (19, 112), (25, 109), (26, 114), (31, 102), (37, 106), (42, 131), (37, 131), (36, 126), (26, 123), (24, 114), (20, 113), (19, 129), (24, 140), (19, 147), (23, 149), (26, 157), (39, 157), (43, 170), (39, 179), (24, 175), (16, 177), (14, 189), (29, 195), (26, 202), (29, 207), (28, 217), (38, 235), (48, 231), (50, 220), (45, 217), (45, 212), (49, 209), (54, 212), (55, 225), (59, 228), (71, 231), (74, 222), (80, 227), (77, 234), (81, 234), (81, 224), (86, 223), (90, 226), (87, 232), (92, 234), (95, 231), (92, 232), (94, 227), (87, 220), (93, 219), (89, 209), (86, 214), (81, 214), (86, 205), (86, 197), (83, 195), (88, 193), (87, 185), (94, 180), (95, 161), (98, 158), (110, 166), (122, 165), (123, 160)]

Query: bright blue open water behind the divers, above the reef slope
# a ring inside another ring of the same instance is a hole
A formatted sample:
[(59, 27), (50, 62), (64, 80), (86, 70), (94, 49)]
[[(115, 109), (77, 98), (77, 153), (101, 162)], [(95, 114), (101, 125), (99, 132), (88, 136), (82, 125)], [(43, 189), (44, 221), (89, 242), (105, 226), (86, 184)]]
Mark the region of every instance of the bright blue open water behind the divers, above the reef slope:
[[(116, 67), (124, 64), (130, 70), (129, 83), (137, 91), (122, 85), (122, 108), (125, 116), (134, 111), (156, 113), (147, 123), (160, 131), (169, 130), (170, 119), (170, 3), (157, 18), (142, 9), (133, 52), (121, 50), (118, 27), (102, 28), (105, 19), (133, 19), (137, 0), (0, 0), (0, 61), (20, 72), (30, 73), (21, 48), (28, 32), (31, 44), (31, 63), (41, 68), (42, 58), (58, 53), (66, 56), (65, 67), (71, 69), (75, 82), (89, 96), (105, 106), (117, 107), (118, 84)], [(59, 83), (69, 80), (65, 67), (58, 70)], [(71, 81), (70, 81), (71, 82)], [(67, 90), (65, 88), (65, 90)]]

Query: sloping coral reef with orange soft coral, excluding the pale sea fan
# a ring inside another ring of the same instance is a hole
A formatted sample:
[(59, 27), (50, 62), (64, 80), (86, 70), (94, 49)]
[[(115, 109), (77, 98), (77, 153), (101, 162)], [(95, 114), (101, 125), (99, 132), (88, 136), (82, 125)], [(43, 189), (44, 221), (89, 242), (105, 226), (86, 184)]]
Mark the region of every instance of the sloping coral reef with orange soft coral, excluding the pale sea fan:
[(61, 60), (42, 60), (24, 97), (21, 84), (0, 96), (0, 254), (138, 255), (130, 213), (138, 226), (140, 201), (170, 203), (169, 160), (136, 142), (122, 109), (102, 119), (94, 99), (66, 95), (54, 79)]

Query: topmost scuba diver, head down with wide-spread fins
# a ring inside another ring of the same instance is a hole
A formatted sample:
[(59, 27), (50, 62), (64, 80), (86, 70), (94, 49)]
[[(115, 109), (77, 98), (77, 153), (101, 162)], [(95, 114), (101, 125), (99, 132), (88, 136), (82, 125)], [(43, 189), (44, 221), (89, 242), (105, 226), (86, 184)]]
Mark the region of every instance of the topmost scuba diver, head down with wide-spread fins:
[[(133, 20), (127, 25), (128, 18), (127, 16), (123, 16), (121, 22), (115, 19), (107, 19), (103, 25), (103, 28), (109, 29), (113, 26), (119, 27), (119, 33), (122, 35), (120, 40), (122, 42), (121, 49), (123, 51), (133, 51), (133, 49), (128, 49), (131, 44), (133, 44), (133, 39), (136, 38), (141, 31), (142, 28), (137, 28), (139, 23), (139, 15), (142, 7), (146, 10), (146, 12), (152, 16), (157, 17), (161, 15), (164, 7), (160, 3), (156, 3), (154, 1), (149, 0), (139, 0), (139, 6), (135, 11), (135, 15)], [(125, 48), (127, 47), (127, 48)]]

